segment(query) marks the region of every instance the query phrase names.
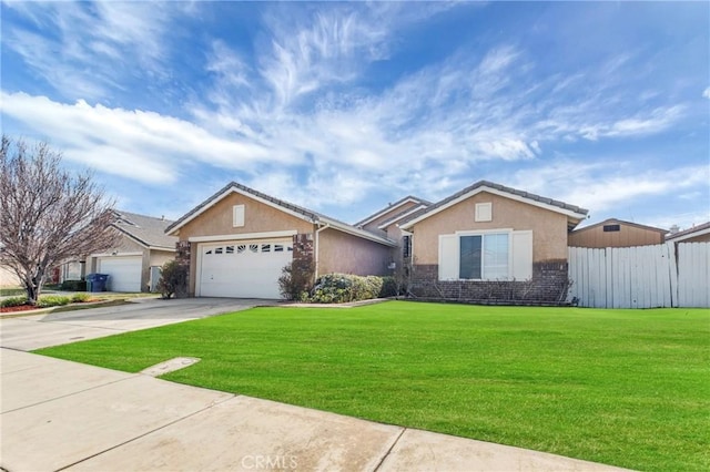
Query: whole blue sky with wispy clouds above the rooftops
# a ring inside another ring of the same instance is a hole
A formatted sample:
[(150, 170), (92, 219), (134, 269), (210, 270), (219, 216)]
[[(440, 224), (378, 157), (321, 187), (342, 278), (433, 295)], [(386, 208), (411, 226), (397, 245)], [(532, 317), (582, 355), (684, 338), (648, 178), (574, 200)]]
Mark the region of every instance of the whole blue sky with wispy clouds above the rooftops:
[(2, 131), (180, 217), (237, 181), (354, 223), (479, 179), (710, 219), (708, 2), (2, 2)]

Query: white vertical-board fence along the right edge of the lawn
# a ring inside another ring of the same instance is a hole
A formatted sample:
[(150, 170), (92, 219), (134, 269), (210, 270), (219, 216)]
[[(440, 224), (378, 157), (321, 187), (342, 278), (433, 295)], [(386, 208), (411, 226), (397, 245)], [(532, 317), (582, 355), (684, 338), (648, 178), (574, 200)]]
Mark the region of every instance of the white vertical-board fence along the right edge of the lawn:
[(570, 247), (569, 278), (581, 307), (710, 307), (710, 243)]

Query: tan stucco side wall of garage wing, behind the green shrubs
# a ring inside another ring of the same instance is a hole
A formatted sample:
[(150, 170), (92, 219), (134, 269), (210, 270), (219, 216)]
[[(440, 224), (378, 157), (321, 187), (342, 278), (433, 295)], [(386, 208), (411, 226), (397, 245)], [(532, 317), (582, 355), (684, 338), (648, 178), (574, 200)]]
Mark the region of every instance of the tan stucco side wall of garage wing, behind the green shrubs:
[(317, 274), (387, 275), (392, 248), (336, 229), (318, 234)]

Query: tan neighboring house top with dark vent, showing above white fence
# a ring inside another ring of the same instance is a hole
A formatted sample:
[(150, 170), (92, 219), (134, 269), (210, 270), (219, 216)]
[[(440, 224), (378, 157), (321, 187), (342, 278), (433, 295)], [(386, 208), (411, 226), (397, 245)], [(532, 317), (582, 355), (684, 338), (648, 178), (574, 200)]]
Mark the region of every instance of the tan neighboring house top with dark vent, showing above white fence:
[(635, 247), (662, 244), (668, 229), (610, 218), (575, 229), (569, 234), (570, 247)]

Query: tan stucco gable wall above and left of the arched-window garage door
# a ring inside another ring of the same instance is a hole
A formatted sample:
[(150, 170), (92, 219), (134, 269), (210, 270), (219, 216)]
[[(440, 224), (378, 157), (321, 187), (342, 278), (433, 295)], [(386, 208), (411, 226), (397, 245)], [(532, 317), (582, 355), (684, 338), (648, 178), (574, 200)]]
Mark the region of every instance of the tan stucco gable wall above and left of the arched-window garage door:
[[(244, 226), (234, 227), (233, 212), (234, 205), (244, 205)], [(296, 216), (288, 215), (270, 205), (257, 202), (245, 195), (232, 193), (222, 198), (211, 208), (204, 211), (196, 218), (180, 228), (178, 235), (179, 247), (190, 255), (189, 259), (179, 257), (182, 264), (190, 260), (190, 275), (187, 277), (187, 295), (194, 297), (196, 266), (197, 266), (197, 244), (187, 243), (190, 237), (217, 236), (217, 235), (240, 235), (248, 233), (267, 233), (278, 230), (295, 229), (298, 234), (313, 234), (314, 225)], [(181, 246), (181, 244), (183, 246)], [(186, 245), (186, 247), (185, 247)]]

